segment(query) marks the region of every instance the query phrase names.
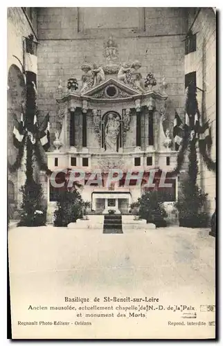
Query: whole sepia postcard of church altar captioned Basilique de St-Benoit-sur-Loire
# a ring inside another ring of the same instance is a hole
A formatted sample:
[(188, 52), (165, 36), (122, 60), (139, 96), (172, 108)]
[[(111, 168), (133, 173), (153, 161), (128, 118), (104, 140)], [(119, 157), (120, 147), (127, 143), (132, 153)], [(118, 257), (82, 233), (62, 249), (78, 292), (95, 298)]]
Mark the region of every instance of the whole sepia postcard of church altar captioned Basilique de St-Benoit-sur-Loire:
[(216, 9), (8, 8), (13, 339), (215, 339)]

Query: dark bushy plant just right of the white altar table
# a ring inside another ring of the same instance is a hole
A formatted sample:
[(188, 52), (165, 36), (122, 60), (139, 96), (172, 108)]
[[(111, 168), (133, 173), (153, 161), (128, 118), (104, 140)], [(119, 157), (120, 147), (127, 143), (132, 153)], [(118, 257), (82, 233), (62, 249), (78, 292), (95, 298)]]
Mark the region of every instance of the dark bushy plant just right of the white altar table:
[(138, 199), (138, 203), (141, 219), (145, 219), (147, 223), (155, 224), (157, 227), (166, 227), (165, 217), (168, 215), (157, 190), (144, 192)]

